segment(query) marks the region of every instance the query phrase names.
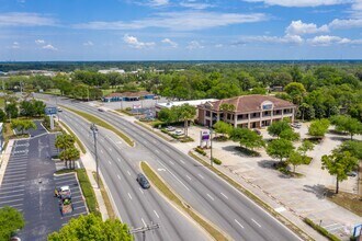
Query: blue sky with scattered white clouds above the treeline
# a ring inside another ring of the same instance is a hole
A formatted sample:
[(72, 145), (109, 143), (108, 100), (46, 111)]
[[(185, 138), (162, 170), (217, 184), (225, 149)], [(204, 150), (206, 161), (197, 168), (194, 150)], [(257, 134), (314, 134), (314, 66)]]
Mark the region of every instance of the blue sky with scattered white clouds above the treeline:
[(0, 61), (362, 59), (362, 0), (0, 0)]

